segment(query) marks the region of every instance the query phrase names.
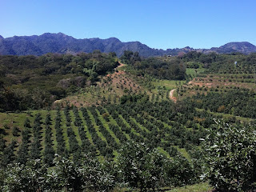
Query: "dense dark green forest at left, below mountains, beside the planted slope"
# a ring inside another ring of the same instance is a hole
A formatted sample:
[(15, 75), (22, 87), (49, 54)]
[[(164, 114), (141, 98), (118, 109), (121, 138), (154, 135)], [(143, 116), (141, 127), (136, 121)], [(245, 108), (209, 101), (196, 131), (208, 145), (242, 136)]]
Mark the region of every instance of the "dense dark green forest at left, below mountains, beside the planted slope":
[[(114, 54), (0, 55), (0, 111), (42, 109), (118, 66)], [(6, 87), (8, 86), (8, 89)]]

